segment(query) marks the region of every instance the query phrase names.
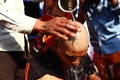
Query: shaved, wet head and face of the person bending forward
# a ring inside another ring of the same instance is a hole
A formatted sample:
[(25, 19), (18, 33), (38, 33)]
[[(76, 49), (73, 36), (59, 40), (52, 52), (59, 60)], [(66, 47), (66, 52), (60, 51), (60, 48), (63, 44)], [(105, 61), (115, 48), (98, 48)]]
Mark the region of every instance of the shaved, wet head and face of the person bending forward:
[(85, 26), (77, 21), (75, 23), (80, 28), (76, 37), (67, 41), (56, 40), (54, 46), (52, 46), (52, 51), (65, 66), (78, 63), (78, 58), (86, 54), (89, 46), (89, 37)]

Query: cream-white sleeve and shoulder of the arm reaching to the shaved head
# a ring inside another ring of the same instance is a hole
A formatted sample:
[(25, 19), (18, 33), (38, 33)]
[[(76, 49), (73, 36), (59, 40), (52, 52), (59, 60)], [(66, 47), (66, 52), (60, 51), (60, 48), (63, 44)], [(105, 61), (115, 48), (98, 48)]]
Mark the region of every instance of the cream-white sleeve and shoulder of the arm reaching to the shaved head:
[[(30, 33), (37, 19), (24, 15), (23, 1), (0, 0), (0, 27), (22, 33)], [(19, 4), (18, 4), (19, 3)]]

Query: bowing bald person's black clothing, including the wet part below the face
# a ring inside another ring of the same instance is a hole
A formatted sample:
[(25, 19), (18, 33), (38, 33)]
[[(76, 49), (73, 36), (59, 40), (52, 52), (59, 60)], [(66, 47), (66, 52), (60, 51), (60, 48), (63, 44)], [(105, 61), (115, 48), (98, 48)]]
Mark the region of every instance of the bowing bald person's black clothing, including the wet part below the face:
[(93, 62), (88, 55), (80, 59), (78, 67), (70, 66), (63, 71), (59, 58), (51, 51), (41, 54), (39, 57), (29, 60), (30, 65), (25, 80), (35, 80), (45, 74), (51, 74), (64, 80), (84, 80), (96, 73)]

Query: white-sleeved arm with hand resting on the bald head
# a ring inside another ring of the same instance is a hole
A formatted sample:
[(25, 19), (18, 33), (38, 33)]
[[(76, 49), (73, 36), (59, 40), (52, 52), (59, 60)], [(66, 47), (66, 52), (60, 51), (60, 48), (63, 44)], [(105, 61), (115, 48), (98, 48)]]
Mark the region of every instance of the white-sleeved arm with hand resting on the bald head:
[(64, 40), (75, 37), (74, 31), (79, 29), (78, 24), (64, 17), (43, 22), (24, 15), (22, 0), (0, 0), (0, 3), (0, 27), (26, 34), (33, 30), (41, 34), (52, 34)]

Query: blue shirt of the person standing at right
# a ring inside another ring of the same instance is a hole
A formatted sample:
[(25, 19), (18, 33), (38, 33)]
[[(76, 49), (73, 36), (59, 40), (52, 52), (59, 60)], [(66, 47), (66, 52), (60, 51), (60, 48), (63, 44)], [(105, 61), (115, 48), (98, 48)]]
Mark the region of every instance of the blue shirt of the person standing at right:
[(102, 53), (112, 54), (120, 51), (120, 0), (116, 7), (112, 7), (108, 0), (88, 3), (86, 11)]

